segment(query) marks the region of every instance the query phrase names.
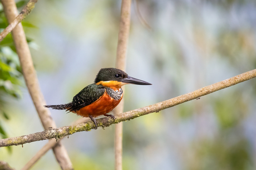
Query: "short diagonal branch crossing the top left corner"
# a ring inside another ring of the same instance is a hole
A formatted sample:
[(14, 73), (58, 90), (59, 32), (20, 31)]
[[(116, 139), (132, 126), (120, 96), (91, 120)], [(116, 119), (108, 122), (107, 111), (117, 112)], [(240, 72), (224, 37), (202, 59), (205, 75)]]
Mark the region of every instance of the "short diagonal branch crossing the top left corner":
[(29, 13), (35, 8), (35, 4), (37, 3), (37, 0), (30, 0), (27, 5), (22, 9), (21, 13), (18, 14), (18, 16), (12, 21), (11, 24), (9, 24), (6, 29), (4, 29), (0, 33), (0, 42), (6, 37), (8, 33), (10, 33), (13, 28), (16, 27), (18, 23), (20, 23), (23, 19), (25, 19)]

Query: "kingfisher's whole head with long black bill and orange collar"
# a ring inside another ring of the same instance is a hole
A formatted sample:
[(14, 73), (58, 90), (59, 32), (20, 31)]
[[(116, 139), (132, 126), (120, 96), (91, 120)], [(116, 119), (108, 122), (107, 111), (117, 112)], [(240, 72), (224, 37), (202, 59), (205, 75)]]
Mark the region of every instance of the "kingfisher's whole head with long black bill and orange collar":
[(127, 75), (124, 71), (115, 68), (101, 69), (95, 79), (96, 84), (107, 87), (121, 87), (125, 84), (151, 85), (146, 81), (135, 79)]

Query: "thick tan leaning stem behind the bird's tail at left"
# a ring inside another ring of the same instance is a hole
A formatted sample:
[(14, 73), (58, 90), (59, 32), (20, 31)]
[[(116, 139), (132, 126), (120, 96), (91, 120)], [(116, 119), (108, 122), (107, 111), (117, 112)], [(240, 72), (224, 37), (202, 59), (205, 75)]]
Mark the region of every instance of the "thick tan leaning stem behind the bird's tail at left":
[[(3, 4), (4, 13), (6, 14), (8, 22), (11, 23), (16, 18), (16, 16), (18, 16), (15, 1), (2, 0), (1, 2)], [(21, 63), (23, 76), (42, 125), (45, 130), (48, 130), (49, 127), (56, 128), (55, 122), (52, 120), (50, 115), (50, 111), (43, 107), (43, 105), (46, 105), (46, 102), (43, 99), (43, 95), (40, 91), (36, 71), (31, 58), (31, 53), (29, 51), (26, 36), (21, 23), (19, 23), (12, 30), (12, 35), (17, 54), (19, 56), (19, 62)], [(55, 153), (55, 157), (62, 169), (73, 169), (67, 151), (61, 143), (53, 148), (53, 152)]]

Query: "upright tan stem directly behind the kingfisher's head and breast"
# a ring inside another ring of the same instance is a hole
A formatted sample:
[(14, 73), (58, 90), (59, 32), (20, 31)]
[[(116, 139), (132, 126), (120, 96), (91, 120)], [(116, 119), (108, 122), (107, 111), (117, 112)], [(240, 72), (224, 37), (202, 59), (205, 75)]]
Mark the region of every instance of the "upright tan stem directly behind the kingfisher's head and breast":
[[(116, 53), (116, 68), (125, 71), (127, 44), (130, 30), (131, 0), (122, 0), (121, 19), (119, 25), (119, 36)], [(123, 89), (124, 90), (124, 89)], [(115, 114), (124, 111), (124, 99), (114, 110)], [(115, 129), (115, 169), (122, 169), (122, 122)]]

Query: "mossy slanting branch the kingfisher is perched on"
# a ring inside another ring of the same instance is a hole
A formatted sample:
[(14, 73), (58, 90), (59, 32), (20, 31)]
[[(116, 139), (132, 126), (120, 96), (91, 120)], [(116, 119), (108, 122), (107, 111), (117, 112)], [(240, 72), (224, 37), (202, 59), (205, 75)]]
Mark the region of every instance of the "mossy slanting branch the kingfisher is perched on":
[[(256, 77), (256, 69), (234, 76), (233, 78), (223, 80), (209, 86), (205, 86), (201, 89), (195, 90), (193, 92), (189, 92), (188, 94), (174, 97), (173, 99), (165, 100), (154, 105), (141, 107), (140, 109), (124, 112), (123, 114), (116, 115), (115, 121), (112, 120), (110, 117), (97, 119), (97, 121), (99, 122), (99, 126), (105, 128), (112, 125), (113, 123), (119, 123), (121, 121), (131, 120), (136, 117), (150, 114), (152, 112), (159, 112), (160, 110), (164, 110), (169, 107), (182, 104), (186, 101), (197, 99), (198, 97), (208, 95), (212, 92), (225, 89), (227, 87), (233, 86), (238, 83), (242, 83), (243, 81), (247, 81), (255, 77)], [(21, 145), (24, 143), (47, 140), (50, 138), (58, 139), (63, 136), (72, 135), (73, 133), (76, 133), (76, 132), (90, 131), (92, 128), (95, 128), (95, 125), (92, 121), (86, 122), (86, 123), (80, 123), (72, 126), (64, 126), (64, 127), (60, 127), (60, 128), (56, 128), (48, 131), (33, 133), (30, 135), (2, 139), (0, 140), (0, 147)]]

